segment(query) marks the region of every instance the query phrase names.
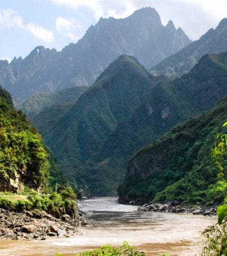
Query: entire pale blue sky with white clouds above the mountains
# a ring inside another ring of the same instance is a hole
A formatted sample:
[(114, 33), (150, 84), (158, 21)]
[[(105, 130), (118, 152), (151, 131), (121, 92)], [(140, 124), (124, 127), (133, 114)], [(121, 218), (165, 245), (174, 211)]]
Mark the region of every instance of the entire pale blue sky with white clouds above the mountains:
[(26, 57), (36, 46), (61, 51), (102, 17), (127, 17), (156, 8), (196, 40), (227, 17), (227, 0), (0, 0), (0, 59)]

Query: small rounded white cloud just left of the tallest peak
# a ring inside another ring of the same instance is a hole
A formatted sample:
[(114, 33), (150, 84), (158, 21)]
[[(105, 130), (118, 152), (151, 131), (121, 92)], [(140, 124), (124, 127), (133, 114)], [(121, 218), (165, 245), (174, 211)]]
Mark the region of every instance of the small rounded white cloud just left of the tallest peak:
[(73, 41), (78, 41), (79, 37), (74, 33), (75, 29), (83, 29), (83, 26), (75, 19), (65, 19), (63, 17), (57, 17), (56, 30), (58, 33), (65, 37), (69, 37)]

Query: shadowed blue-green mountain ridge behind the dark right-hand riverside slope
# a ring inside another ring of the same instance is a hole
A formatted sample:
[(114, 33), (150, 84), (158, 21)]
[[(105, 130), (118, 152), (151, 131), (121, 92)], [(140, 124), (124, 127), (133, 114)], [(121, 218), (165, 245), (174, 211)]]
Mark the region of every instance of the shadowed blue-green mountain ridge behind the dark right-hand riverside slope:
[(227, 52), (205, 55), (181, 78), (150, 89), (142, 103), (122, 120), (75, 178), (93, 195), (114, 195), (130, 156), (157, 140), (175, 124), (211, 109), (227, 93)]

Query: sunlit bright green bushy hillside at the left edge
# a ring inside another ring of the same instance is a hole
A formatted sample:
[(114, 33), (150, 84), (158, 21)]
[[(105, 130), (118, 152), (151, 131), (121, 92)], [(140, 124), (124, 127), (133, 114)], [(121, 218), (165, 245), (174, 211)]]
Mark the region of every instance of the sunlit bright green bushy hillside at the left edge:
[(20, 192), (26, 186), (42, 192), (55, 181), (62, 183), (62, 173), (37, 130), (21, 110), (14, 109), (2, 87), (0, 113), (0, 191)]

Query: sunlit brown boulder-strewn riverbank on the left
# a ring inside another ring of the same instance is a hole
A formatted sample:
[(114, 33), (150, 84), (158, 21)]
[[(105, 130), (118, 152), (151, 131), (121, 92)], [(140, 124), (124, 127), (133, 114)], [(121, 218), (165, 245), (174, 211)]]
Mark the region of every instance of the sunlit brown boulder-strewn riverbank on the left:
[(12, 212), (0, 208), (0, 239), (46, 240), (48, 237), (70, 237), (87, 225), (78, 211), (75, 218), (64, 214), (60, 219), (46, 212)]

